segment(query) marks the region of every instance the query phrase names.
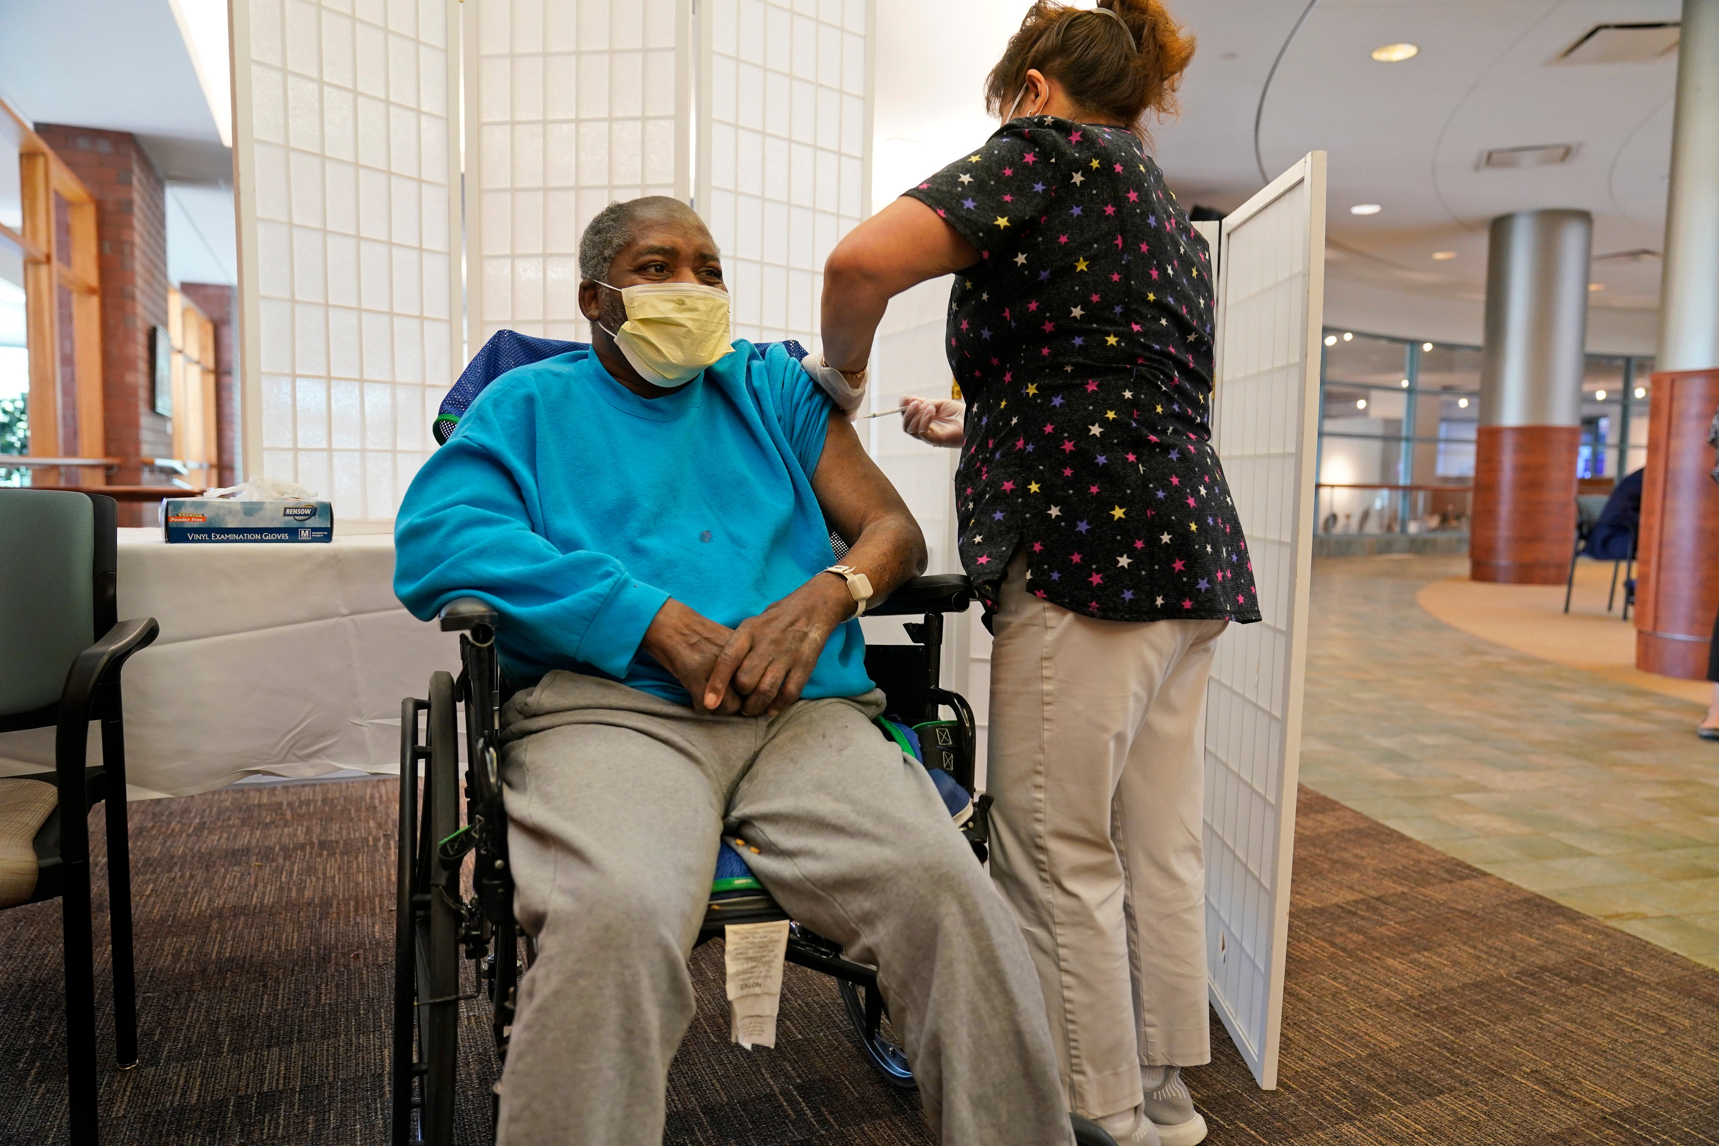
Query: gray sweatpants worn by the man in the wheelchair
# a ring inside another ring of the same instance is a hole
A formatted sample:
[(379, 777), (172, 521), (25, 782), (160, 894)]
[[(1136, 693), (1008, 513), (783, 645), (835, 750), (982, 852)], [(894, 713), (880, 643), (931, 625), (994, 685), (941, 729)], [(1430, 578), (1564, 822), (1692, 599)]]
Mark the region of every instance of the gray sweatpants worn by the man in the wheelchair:
[(502, 1146), (662, 1141), (725, 818), (760, 849), (748, 863), (784, 911), (878, 969), (944, 1143), (1071, 1141), (1021, 930), (925, 770), (870, 723), (880, 708), (870, 692), (713, 716), (571, 672), (514, 696), (502, 777), (538, 960), (521, 983)]

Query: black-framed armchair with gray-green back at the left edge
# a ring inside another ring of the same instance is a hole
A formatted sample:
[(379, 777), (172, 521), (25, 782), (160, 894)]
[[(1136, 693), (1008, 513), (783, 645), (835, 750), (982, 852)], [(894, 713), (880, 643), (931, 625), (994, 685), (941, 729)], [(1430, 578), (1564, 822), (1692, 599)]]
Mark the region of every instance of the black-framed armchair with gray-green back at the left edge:
[[(65, 919), (65, 1067), (70, 1141), (96, 1143), (95, 936), (89, 809), (107, 799), (108, 917), (113, 935), (113, 1057), (138, 1065), (131, 854), (125, 840), (125, 725), (120, 668), (155, 641), (153, 617), (119, 620), (117, 502), (52, 490), (0, 490), (0, 732), (55, 727), (55, 770), (0, 780), (0, 808), (31, 832), (0, 907), (60, 899)], [(101, 766), (86, 766), (89, 722)], [(34, 826), (31, 826), (34, 821)], [(15, 844), (15, 840), (14, 840)], [(28, 885), (28, 887), (26, 887)], [(10, 895), (7, 895), (10, 892)]]

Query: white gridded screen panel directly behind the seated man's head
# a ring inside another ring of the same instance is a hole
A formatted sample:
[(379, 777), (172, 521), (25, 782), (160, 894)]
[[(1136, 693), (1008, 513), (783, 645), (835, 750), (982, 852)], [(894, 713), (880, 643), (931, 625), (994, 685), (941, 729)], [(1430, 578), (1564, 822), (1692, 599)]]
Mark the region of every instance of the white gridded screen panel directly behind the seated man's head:
[(590, 342), (579, 235), (612, 199), (686, 201), (691, 0), (466, 0), (471, 349)]

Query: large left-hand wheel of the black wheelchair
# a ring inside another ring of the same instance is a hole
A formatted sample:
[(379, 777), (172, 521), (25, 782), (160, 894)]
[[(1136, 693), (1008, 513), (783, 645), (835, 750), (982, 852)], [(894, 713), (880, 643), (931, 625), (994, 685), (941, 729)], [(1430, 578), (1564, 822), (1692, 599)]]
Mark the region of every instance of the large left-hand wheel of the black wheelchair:
[[(395, 945), (394, 1146), (452, 1146), (459, 1058), (459, 871), (437, 844), (459, 830), (459, 722), (454, 679), (430, 679), (430, 746), (418, 747), (421, 701), (406, 701)], [(423, 814), (413, 823), (416, 761), (428, 758)], [(413, 1086), (416, 1082), (416, 1088)], [(411, 1112), (416, 1110), (416, 1125)]]

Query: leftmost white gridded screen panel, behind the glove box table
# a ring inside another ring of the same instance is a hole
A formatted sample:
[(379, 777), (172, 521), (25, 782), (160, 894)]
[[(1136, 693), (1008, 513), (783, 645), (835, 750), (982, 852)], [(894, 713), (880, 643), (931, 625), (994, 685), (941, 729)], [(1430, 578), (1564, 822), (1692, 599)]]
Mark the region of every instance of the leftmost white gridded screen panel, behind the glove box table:
[(457, 357), (454, 0), (236, 0), (246, 469), (388, 519)]

